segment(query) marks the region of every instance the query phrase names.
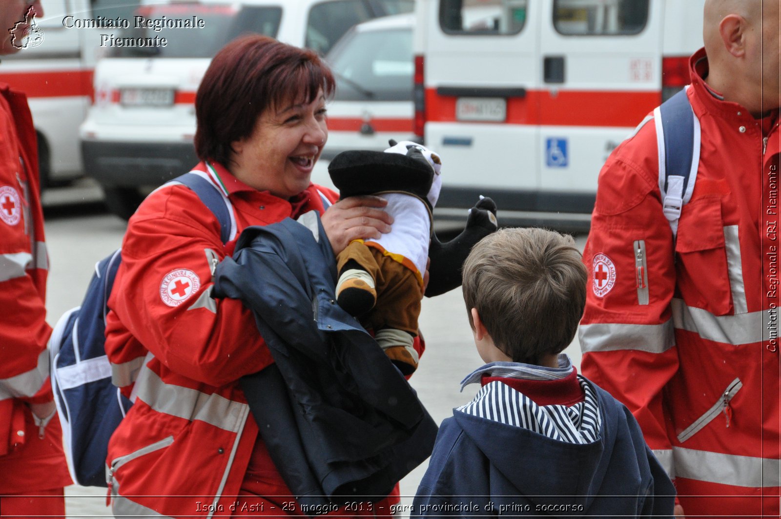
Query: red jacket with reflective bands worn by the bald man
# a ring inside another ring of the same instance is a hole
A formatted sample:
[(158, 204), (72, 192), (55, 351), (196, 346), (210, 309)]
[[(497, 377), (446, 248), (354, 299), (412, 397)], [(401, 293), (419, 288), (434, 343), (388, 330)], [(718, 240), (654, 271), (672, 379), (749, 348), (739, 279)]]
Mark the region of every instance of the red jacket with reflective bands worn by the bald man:
[(599, 176), (582, 369), (632, 410), (687, 516), (778, 514), (778, 110), (719, 100), (704, 49), (690, 67), (701, 155), (676, 242), (653, 123)]

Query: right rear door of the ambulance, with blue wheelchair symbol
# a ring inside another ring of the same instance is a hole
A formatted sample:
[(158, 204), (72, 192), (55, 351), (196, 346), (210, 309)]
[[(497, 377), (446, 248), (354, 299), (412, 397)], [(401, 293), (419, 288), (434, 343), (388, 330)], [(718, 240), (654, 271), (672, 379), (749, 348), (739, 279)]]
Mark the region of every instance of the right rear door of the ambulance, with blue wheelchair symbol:
[(541, 0), (540, 189), (590, 213), (612, 149), (661, 102), (662, 2)]

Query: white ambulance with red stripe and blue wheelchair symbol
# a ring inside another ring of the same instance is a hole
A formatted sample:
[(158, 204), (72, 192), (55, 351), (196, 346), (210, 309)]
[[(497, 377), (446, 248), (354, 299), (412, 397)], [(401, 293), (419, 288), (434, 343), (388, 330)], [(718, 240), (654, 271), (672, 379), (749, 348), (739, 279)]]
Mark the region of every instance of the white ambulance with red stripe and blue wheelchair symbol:
[(688, 84), (703, 5), (417, 0), (415, 134), (447, 166), (437, 216), (490, 195), (505, 223), (587, 229), (604, 160)]

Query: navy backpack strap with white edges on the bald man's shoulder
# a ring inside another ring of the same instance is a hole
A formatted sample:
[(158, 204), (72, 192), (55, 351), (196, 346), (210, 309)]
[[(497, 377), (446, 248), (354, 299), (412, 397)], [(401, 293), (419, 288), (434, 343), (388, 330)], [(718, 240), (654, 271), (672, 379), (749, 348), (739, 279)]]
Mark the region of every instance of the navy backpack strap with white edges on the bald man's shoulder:
[(700, 165), (700, 121), (694, 116), (686, 89), (654, 109), (654, 124), (659, 154), (659, 191), (674, 240), (681, 209), (691, 199)]

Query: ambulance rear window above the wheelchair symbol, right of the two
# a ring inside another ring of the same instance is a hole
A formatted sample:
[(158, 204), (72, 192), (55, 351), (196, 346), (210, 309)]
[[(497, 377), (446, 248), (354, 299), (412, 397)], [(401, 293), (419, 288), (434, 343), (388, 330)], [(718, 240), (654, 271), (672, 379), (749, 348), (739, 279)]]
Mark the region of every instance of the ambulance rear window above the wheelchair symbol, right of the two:
[(553, 25), (566, 36), (637, 34), (648, 21), (648, 0), (554, 0)]

